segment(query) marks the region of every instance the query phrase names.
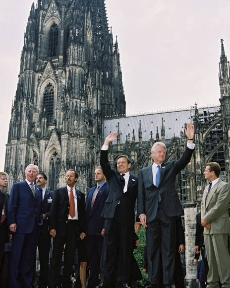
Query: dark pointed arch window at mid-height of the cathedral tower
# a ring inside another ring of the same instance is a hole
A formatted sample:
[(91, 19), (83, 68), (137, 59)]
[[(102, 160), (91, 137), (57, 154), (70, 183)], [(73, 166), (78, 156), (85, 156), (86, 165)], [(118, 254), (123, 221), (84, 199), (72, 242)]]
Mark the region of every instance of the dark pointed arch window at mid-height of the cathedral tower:
[(54, 111), (54, 86), (52, 83), (48, 83), (45, 91), (44, 91), (44, 97), (43, 97), (43, 109), (45, 110), (47, 122), (52, 123), (53, 122), (53, 111)]

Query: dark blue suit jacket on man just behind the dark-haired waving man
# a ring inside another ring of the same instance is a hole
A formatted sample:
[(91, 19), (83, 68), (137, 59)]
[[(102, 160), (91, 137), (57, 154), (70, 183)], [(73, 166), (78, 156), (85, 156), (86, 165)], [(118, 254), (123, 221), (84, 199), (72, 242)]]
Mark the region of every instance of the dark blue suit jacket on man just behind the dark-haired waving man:
[(88, 235), (101, 235), (102, 229), (104, 228), (105, 218), (102, 217), (101, 214), (109, 194), (109, 185), (104, 183), (99, 189), (93, 209), (91, 210), (92, 195), (96, 187), (97, 186), (90, 188), (86, 196), (85, 211)]

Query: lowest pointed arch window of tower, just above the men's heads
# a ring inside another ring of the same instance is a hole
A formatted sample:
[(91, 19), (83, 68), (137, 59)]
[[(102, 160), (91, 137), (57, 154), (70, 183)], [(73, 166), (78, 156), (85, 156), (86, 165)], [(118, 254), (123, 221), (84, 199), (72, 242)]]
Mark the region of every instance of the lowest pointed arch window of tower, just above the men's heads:
[(60, 156), (55, 150), (50, 157), (50, 189), (54, 191), (58, 187), (58, 176), (60, 170)]

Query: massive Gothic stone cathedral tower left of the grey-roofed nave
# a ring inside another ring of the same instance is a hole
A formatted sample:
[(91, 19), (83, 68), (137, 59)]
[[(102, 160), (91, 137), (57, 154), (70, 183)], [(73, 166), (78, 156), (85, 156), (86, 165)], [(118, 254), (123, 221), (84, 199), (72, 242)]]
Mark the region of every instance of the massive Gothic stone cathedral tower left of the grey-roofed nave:
[(32, 4), (6, 144), (8, 188), (34, 163), (49, 189), (72, 168), (86, 192), (111, 115), (125, 115), (125, 98), (104, 0)]

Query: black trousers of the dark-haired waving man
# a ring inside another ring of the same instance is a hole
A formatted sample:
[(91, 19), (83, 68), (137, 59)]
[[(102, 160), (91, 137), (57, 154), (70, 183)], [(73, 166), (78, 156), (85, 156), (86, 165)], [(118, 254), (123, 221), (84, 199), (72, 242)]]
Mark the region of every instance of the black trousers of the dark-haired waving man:
[(133, 226), (121, 224), (115, 219), (106, 219), (101, 259), (101, 283), (110, 285), (116, 261), (118, 268), (115, 282), (116, 280), (121, 283), (128, 282), (133, 234)]

